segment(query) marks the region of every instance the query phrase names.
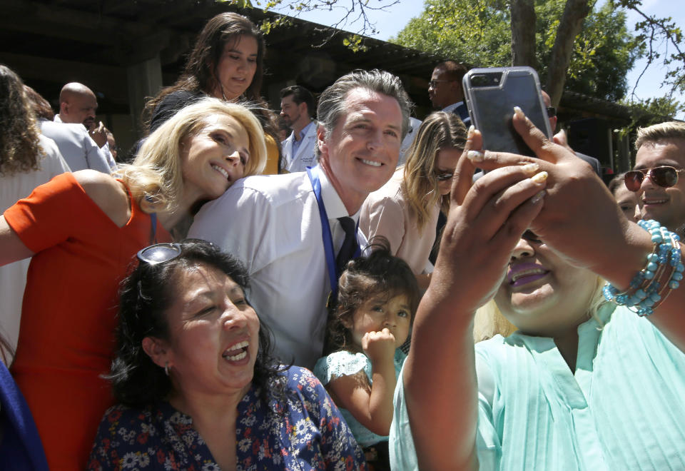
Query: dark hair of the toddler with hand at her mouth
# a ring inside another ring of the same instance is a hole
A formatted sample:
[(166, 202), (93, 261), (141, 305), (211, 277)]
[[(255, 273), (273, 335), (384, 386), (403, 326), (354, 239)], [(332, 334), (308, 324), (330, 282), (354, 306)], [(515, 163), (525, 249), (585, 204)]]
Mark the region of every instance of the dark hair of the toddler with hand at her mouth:
[(412, 269), (392, 255), (385, 237), (372, 238), (365, 250), (371, 250), (370, 255), (347, 262), (338, 280), (338, 302), (328, 320), (324, 355), (352, 345), (352, 333), (345, 325), (352, 324), (355, 311), (371, 298), (407, 295), (414, 321), (421, 293)]

